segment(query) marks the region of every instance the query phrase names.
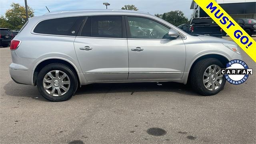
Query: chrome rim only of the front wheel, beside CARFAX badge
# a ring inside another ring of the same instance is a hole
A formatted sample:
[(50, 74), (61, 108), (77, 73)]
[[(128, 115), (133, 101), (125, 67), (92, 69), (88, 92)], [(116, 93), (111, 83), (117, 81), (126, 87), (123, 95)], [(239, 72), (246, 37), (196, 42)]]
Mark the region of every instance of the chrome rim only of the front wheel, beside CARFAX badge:
[(212, 65), (206, 68), (203, 76), (204, 87), (207, 90), (217, 90), (223, 81), (223, 76), (220, 74), (220, 67)]

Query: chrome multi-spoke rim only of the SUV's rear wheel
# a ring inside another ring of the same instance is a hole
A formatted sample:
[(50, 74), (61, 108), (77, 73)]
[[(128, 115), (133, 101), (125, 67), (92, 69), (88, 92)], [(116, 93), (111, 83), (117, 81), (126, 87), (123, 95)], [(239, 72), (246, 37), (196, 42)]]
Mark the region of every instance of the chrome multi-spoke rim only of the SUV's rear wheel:
[(48, 72), (43, 79), (44, 90), (52, 96), (62, 96), (70, 88), (68, 75), (60, 70)]

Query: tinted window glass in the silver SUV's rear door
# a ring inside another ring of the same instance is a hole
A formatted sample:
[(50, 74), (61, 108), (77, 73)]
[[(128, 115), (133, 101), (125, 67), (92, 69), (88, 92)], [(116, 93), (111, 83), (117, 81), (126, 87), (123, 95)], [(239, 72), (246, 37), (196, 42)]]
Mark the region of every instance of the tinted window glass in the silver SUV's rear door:
[(92, 17), (92, 37), (122, 38), (122, 17), (101, 16)]

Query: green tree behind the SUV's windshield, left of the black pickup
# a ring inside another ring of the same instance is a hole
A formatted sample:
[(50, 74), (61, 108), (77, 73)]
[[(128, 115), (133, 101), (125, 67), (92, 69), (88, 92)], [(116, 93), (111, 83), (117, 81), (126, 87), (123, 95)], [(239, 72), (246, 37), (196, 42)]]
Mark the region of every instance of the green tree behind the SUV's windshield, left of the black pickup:
[[(155, 14), (158, 18), (162, 18), (163, 20), (173, 24), (174, 26), (179, 26), (180, 24), (185, 24), (188, 22), (188, 18), (184, 16), (184, 13), (182, 11), (170, 11), (165, 12), (164, 14)], [(177, 24), (178, 19), (178, 24)]]

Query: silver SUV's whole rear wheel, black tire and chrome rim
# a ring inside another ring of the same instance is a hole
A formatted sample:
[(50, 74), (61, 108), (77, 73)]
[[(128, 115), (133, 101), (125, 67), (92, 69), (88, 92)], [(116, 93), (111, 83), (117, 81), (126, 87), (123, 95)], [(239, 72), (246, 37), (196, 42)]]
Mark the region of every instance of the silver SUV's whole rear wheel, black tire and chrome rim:
[(40, 70), (36, 84), (47, 100), (60, 102), (70, 99), (78, 87), (73, 70), (63, 64), (49, 64)]

